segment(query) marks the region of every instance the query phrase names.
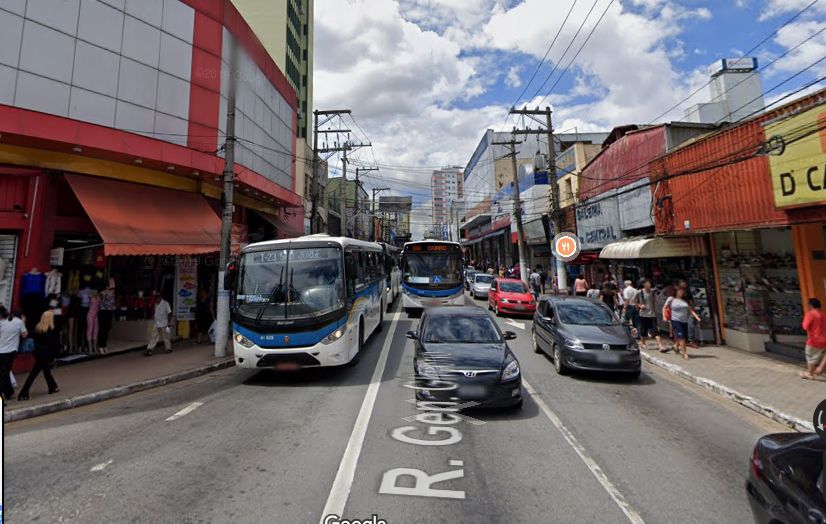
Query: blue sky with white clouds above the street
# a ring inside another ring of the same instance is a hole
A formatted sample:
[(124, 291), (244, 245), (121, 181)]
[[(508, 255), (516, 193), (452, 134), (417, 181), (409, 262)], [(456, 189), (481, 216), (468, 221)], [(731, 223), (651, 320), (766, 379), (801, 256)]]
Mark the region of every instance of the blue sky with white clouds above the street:
[(348, 178), (379, 165), (361, 177), (368, 193), (413, 196), (420, 237), (430, 171), (464, 166), (486, 129), (521, 125), (513, 106), (552, 107), (556, 132), (609, 131), (682, 119), (723, 58), (758, 59), (767, 103), (824, 76), (826, 0), (799, 15), (812, 2), (316, 0), (314, 105), (352, 110), (328, 124), (372, 144)]

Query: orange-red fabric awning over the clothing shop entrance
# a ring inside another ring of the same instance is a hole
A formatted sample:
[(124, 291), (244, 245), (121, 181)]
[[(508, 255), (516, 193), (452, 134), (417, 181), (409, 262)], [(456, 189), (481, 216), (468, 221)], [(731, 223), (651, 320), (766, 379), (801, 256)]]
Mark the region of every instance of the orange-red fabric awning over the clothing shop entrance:
[(199, 255), (220, 249), (221, 219), (201, 195), (66, 175), (107, 255)]

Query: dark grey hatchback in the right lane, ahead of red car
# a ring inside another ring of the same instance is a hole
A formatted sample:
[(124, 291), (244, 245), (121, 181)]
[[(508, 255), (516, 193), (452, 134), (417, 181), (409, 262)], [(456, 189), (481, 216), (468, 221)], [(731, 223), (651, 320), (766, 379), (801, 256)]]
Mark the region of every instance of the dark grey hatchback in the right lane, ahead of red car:
[(570, 370), (616, 371), (638, 377), (640, 349), (605, 304), (585, 297), (555, 296), (537, 305), (533, 350), (547, 353), (560, 375)]

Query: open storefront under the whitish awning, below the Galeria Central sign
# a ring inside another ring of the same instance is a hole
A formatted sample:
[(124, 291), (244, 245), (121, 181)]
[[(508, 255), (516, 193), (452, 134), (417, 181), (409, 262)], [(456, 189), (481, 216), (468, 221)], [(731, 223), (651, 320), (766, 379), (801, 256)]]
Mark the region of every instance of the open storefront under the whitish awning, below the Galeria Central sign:
[(707, 239), (703, 236), (674, 238), (629, 238), (607, 245), (599, 258), (608, 261), (608, 270), (619, 282), (630, 280), (638, 285), (645, 278), (660, 290), (657, 318), (660, 329), (668, 331), (662, 320), (662, 309), (674, 294), (681, 280), (688, 284), (694, 298), (695, 311), (702, 318), (699, 329), (693, 330), (697, 342), (721, 341), (719, 316), (715, 306), (714, 269)]

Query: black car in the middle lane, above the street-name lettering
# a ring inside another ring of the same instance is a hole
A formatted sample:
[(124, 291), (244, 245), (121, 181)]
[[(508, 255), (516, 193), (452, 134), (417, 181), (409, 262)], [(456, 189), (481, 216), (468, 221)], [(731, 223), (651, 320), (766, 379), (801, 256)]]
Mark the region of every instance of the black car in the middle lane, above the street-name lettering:
[(490, 313), (482, 308), (443, 306), (425, 310), (419, 330), (407, 333), (416, 341), (413, 367), (419, 400), (478, 407), (521, 407), (522, 373), (508, 340)]

